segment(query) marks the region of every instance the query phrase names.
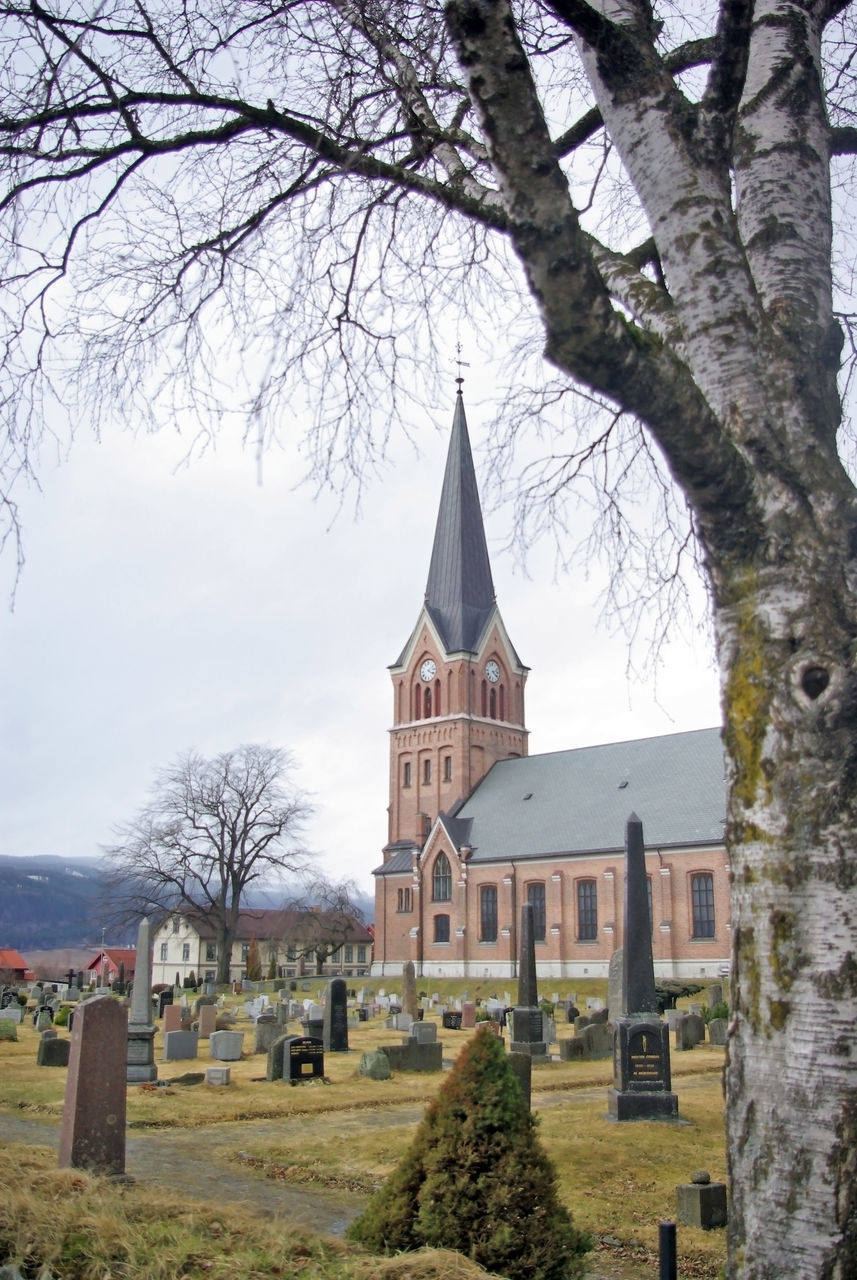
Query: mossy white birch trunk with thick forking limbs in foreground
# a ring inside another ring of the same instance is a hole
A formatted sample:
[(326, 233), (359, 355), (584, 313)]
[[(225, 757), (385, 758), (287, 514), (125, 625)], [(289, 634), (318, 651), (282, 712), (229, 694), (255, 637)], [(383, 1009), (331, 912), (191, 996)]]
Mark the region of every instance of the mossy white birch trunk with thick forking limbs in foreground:
[(553, 8), (654, 230), (672, 349), (643, 352), (586, 270), (510, 10), (449, 13), (550, 357), (649, 424), (705, 548), (733, 876), (728, 1274), (854, 1276), (857, 503), (835, 445), (826, 13), (756, 5), (739, 99), (712, 77), (691, 120), (642, 5)]

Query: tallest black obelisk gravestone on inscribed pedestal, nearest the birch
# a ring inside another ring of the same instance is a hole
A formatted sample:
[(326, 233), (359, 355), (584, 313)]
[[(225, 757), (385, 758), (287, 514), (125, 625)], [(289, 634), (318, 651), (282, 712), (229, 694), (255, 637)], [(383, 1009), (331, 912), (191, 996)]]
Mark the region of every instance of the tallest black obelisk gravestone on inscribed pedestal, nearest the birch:
[(608, 1105), (614, 1120), (678, 1119), (678, 1097), (672, 1092), (669, 1027), (660, 1020), (655, 995), (646, 850), (642, 822), (636, 813), (625, 824), (622, 1015), (615, 1023)]

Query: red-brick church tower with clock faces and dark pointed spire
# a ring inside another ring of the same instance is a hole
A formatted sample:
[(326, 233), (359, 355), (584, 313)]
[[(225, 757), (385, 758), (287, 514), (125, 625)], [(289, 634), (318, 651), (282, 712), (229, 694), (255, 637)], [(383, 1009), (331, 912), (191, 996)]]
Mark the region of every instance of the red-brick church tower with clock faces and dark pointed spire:
[(426, 598), (390, 667), (385, 863), (421, 850), (496, 760), (527, 754), (527, 673), (496, 607), (459, 379)]

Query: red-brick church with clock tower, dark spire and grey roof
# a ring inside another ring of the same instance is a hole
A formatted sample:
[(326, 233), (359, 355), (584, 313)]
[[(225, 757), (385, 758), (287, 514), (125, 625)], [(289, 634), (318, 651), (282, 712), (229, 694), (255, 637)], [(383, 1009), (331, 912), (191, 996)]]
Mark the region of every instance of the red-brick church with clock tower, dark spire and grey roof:
[(606, 977), (624, 833), (643, 823), (655, 974), (729, 968), (719, 728), (530, 755), (528, 668), (494, 594), (460, 380), (426, 596), (390, 667), (390, 806), (372, 974), (517, 977), (521, 905), (541, 978)]

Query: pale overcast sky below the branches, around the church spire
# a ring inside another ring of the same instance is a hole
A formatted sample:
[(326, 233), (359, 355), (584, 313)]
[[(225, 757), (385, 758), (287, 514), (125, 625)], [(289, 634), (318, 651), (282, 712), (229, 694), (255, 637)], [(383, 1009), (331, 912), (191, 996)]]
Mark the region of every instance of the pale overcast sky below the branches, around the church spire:
[[(487, 411), (464, 390), (481, 472)], [(386, 668), (422, 603), (453, 407), (450, 378), (420, 456), (394, 444), (357, 520), (295, 489), (293, 454), (267, 454), (260, 484), (229, 440), (187, 468), (170, 433), (82, 435), (68, 461), (43, 460), (12, 612), (0, 566), (0, 852), (97, 854), (160, 765), (270, 742), (293, 751), (315, 800), (311, 847), (372, 892)], [(508, 508), (486, 515), (498, 603), (532, 668), (531, 754), (719, 722), (704, 636), (677, 639), (656, 687), (629, 681), (625, 637), (597, 622), (599, 576), (554, 581), (547, 543), (524, 575), (503, 550), (509, 527)]]

